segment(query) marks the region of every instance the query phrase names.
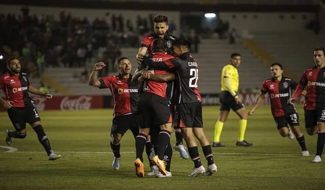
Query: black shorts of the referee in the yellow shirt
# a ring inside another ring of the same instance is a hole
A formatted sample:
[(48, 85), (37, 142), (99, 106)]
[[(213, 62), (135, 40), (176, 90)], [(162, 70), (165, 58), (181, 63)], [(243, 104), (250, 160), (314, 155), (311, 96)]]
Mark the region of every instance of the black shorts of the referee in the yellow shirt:
[(235, 98), (229, 91), (221, 91), (219, 94), (220, 111), (230, 111), (230, 108), (237, 111), (244, 107), (244, 104), (237, 104)]

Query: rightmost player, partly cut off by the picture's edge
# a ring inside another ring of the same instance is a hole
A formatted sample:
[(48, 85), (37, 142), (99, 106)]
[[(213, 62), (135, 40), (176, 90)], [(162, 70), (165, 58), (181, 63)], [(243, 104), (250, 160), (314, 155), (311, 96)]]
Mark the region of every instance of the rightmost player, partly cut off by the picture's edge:
[(313, 163), (321, 163), (325, 143), (325, 49), (316, 48), (313, 55), (315, 66), (305, 70), (289, 102), (297, 100), (307, 86), (304, 103), (305, 126), (309, 135), (318, 135)]

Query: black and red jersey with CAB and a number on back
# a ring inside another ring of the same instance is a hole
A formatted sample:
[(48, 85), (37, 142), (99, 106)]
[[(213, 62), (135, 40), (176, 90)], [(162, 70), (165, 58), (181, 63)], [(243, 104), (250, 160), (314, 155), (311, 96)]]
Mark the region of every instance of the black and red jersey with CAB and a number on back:
[(183, 53), (178, 58), (171, 58), (159, 62), (153, 62), (145, 57), (144, 63), (149, 68), (154, 68), (156, 70), (175, 70), (177, 104), (202, 101), (198, 88), (198, 63), (189, 52)]

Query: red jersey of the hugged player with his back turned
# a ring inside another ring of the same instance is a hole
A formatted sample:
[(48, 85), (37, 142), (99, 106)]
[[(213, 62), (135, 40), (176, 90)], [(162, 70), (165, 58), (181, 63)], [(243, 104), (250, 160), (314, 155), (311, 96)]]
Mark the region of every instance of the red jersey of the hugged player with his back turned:
[[(154, 52), (151, 54), (152, 60), (153, 61), (165, 61), (170, 58), (175, 58), (172, 55), (165, 54), (163, 52)], [(149, 72), (157, 75), (166, 75), (169, 72), (168, 71), (163, 71), (163, 70), (154, 70), (154, 69), (148, 69)], [(166, 89), (167, 89), (167, 83), (166, 82), (156, 82), (152, 80), (145, 80), (144, 85), (143, 85), (143, 91), (145, 92), (150, 92), (150, 93), (155, 93), (160, 97), (166, 98)], [(171, 92), (169, 92), (171, 93)]]

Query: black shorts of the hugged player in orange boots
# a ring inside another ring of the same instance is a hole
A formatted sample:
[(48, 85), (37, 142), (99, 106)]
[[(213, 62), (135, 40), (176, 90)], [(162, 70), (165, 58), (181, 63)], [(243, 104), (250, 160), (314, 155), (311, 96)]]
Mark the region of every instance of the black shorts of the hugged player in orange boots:
[(167, 99), (157, 94), (143, 92), (139, 98), (138, 110), (141, 129), (173, 122)]

